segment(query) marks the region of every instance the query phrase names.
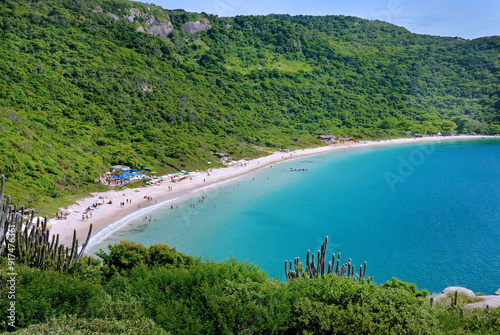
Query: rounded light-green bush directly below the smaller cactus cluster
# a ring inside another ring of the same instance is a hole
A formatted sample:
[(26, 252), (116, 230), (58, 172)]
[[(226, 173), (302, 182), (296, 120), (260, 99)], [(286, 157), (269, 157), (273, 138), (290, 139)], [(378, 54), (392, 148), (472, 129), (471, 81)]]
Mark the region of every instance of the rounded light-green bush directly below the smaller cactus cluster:
[(430, 308), (404, 289), (333, 275), (293, 280), (294, 331), (304, 334), (431, 334)]

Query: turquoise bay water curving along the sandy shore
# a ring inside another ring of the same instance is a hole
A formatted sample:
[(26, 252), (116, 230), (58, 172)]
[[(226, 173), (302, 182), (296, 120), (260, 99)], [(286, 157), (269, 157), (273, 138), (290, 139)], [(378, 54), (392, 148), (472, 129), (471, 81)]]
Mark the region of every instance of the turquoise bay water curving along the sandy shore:
[(328, 235), (330, 254), (358, 267), (367, 261), (378, 284), (397, 277), (431, 292), (500, 287), (500, 140), (298, 158), (175, 205), (146, 213), (151, 223), (144, 213), (128, 218), (91, 251), (120, 240), (164, 243), (215, 261), (232, 255), (284, 280), (284, 261), (304, 260)]

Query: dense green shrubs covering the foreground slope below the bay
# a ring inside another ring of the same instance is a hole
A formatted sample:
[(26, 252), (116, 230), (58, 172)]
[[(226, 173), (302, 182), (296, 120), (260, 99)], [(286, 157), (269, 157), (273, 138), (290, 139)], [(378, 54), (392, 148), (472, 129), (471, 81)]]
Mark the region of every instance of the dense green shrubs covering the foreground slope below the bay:
[[(268, 279), (257, 267), (121, 242), (64, 273), (17, 266), (17, 334), (493, 334), (500, 309), (431, 307), (396, 279)], [(90, 265), (89, 265), (90, 263)], [(9, 299), (0, 271), (0, 318)], [(5, 270), (5, 271), (3, 271)], [(27, 327), (27, 328), (26, 328)], [(0, 323), (0, 329), (7, 325)]]

